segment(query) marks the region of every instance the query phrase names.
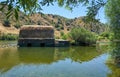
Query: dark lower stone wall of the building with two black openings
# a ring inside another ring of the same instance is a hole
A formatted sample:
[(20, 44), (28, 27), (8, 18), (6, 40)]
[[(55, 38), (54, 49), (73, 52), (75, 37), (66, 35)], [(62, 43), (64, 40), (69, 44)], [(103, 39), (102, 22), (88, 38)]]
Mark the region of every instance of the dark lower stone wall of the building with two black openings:
[(54, 47), (54, 39), (19, 39), (19, 47)]

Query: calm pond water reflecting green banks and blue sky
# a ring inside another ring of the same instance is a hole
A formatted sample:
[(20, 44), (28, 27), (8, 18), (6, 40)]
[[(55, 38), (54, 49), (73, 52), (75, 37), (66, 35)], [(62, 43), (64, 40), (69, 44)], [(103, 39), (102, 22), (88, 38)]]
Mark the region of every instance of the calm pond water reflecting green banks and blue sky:
[(0, 48), (0, 77), (120, 77), (107, 49)]

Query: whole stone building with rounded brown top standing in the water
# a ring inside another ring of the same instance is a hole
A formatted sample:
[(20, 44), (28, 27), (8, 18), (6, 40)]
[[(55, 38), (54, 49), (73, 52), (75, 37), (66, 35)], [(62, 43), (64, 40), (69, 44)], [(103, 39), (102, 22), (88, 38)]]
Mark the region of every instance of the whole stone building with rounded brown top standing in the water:
[(54, 47), (54, 28), (52, 26), (23, 26), (20, 29), (19, 47)]

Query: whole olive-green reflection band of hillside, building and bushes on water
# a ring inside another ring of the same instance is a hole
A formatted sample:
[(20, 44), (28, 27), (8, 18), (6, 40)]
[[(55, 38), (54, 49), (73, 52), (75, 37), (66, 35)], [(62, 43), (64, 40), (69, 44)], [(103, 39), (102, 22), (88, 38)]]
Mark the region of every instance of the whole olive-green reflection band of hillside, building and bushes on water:
[(97, 52), (95, 47), (0, 49), (0, 71), (7, 71), (20, 63), (51, 64), (66, 58), (76, 62), (85, 62), (100, 54), (101, 52)]

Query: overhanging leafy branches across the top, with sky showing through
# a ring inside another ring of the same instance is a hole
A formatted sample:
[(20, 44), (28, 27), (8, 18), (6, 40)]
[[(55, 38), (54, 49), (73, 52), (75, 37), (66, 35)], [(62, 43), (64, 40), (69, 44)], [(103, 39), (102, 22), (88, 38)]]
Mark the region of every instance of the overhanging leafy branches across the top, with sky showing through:
[(54, 5), (58, 3), (59, 6), (63, 6), (66, 9), (72, 10), (73, 7), (83, 4), (87, 6), (87, 15), (94, 18), (98, 13), (98, 10), (106, 4), (103, 0), (2, 0), (0, 1), (0, 11), (8, 6), (6, 16), (9, 18), (14, 15), (18, 19), (18, 11), (24, 10), (25, 13), (31, 14), (38, 10), (42, 10), (42, 6)]

